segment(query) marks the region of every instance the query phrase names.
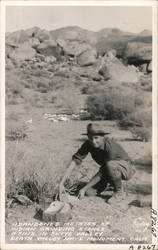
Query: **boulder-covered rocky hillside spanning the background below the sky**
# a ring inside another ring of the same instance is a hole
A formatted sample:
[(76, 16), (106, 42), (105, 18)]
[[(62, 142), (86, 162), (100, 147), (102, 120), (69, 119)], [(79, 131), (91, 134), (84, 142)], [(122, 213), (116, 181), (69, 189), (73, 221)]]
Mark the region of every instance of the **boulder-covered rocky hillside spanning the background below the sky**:
[(91, 66), (100, 65), (101, 58), (114, 50), (114, 55), (125, 64), (145, 64), (148, 71), (152, 60), (151, 35), (149, 30), (135, 34), (116, 28), (94, 32), (78, 26), (52, 31), (33, 27), (6, 33), (6, 62), (11, 66), (25, 60), (39, 61), (40, 58), (48, 64), (71, 61), (81, 67)]

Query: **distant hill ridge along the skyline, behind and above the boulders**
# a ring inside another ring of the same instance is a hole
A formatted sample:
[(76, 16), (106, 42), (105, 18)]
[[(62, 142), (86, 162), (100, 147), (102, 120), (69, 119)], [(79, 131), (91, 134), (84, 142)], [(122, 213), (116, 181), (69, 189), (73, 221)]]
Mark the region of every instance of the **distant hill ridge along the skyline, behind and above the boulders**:
[(151, 43), (152, 33), (150, 30), (142, 32), (130, 33), (124, 32), (116, 28), (105, 28), (97, 32), (82, 29), (78, 26), (68, 26), (52, 31), (41, 30), (33, 27), (26, 30), (19, 30), (6, 34), (7, 44), (21, 44), (29, 40), (30, 37), (38, 39), (40, 42), (53, 39), (54, 41), (64, 40), (71, 43), (89, 43), (94, 46), (99, 53), (105, 53), (110, 49), (118, 50), (122, 53), (125, 45), (130, 41)]

